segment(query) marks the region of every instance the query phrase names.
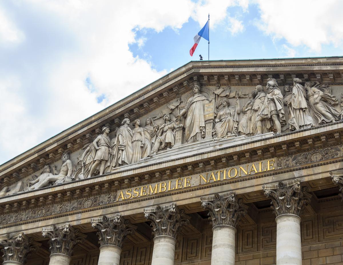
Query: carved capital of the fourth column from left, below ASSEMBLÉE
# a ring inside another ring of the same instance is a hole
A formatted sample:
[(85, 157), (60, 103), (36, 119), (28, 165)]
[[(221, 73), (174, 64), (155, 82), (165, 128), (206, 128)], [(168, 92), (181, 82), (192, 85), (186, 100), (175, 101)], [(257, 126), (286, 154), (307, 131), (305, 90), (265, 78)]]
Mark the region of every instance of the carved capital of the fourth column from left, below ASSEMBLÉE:
[(188, 216), (184, 214), (184, 210), (179, 210), (176, 207), (176, 203), (145, 208), (144, 216), (151, 221), (152, 232), (155, 237), (166, 235), (176, 239), (182, 226), (189, 223)]

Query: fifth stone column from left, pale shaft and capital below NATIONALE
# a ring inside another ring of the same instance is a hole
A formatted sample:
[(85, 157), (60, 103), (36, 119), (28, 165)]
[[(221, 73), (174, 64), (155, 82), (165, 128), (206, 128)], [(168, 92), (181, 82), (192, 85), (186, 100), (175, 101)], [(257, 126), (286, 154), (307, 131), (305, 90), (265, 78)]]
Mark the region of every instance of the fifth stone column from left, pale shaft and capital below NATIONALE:
[(202, 206), (209, 210), (213, 225), (211, 265), (235, 265), (236, 225), (247, 214), (242, 199), (237, 199), (233, 191), (200, 199)]

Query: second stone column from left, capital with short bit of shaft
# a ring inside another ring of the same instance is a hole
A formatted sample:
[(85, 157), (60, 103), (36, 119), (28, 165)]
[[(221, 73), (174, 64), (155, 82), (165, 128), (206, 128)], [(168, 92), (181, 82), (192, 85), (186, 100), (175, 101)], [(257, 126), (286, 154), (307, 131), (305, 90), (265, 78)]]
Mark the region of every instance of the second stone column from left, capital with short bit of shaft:
[(85, 238), (85, 235), (79, 233), (70, 223), (43, 227), (42, 233), (43, 237), (49, 238), (49, 265), (69, 265), (74, 246), (83, 243)]

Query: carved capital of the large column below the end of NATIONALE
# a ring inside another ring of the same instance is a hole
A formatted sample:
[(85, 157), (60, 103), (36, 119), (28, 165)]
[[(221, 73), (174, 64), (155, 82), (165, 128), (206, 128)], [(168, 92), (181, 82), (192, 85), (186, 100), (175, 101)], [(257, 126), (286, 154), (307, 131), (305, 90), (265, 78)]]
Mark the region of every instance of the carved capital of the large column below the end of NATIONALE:
[(300, 216), (303, 207), (310, 203), (311, 195), (306, 192), (307, 187), (300, 186), (300, 179), (286, 183), (263, 185), (265, 196), (272, 200), (271, 208), (276, 217), (284, 214)]

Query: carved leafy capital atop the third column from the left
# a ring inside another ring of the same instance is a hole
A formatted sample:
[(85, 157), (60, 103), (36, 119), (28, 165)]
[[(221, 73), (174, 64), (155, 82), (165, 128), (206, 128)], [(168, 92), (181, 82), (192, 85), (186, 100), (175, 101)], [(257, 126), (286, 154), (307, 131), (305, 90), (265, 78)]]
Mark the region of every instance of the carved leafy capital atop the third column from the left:
[(100, 246), (115, 245), (121, 248), (126, 236), (132, 234), (135, 229), (129, 220), (121, 217), (121, 214), (92, 218), (91, 223), (92, 227), (98, 230), (97, 235)]

